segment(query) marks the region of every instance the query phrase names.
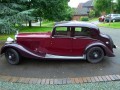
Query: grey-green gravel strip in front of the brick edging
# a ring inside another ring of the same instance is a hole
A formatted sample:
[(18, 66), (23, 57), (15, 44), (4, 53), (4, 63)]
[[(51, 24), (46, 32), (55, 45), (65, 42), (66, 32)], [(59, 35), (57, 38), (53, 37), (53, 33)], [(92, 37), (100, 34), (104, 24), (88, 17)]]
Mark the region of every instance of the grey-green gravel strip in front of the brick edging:
[(0, 82), (0, 90), (120, 90), (120, 81), (69, 85), (39, 85)]

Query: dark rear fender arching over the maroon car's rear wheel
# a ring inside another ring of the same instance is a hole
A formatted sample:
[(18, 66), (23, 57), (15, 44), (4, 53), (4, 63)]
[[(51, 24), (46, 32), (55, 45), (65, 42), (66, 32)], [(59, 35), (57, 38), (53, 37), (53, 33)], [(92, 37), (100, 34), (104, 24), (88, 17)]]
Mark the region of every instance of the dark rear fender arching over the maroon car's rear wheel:
[(101, 43), (101, 42), (94, 42), (89, 44), (86, 49), (84, 54), (87, 53), (87, 51), (92, 48), (92, 47), (101, 47), (104, 51), (105, 56), (109, 56), (109, 57), (114, 57), (115, 55), (113, 54), (113, 51), (110, 50), (105, 44)]

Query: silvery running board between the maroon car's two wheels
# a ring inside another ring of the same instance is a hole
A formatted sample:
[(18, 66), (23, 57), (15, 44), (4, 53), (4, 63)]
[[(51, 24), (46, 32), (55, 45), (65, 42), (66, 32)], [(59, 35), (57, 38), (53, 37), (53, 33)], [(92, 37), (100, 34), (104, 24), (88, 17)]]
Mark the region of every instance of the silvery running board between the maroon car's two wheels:
[(86, 59), (86, 56), (59, 56), (59, 55), (52, 55), (46, 54), (45, 58), (53, 58), (53, 59)]

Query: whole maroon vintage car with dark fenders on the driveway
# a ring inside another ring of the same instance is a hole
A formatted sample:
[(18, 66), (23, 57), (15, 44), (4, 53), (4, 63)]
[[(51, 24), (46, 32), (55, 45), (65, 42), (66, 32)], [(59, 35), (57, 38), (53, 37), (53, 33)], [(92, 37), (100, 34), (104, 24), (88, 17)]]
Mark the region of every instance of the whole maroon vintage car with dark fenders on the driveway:
[(115, 56), (111, 37), (88, 22), (57, 23), (52, 32), (18, 33), (15, 38), (8, 38), (1, 49), (1, 54), (5, 53), (6, 60), (13, 65), (18, 64), (21, 57), (98, 63), (104, 56)]

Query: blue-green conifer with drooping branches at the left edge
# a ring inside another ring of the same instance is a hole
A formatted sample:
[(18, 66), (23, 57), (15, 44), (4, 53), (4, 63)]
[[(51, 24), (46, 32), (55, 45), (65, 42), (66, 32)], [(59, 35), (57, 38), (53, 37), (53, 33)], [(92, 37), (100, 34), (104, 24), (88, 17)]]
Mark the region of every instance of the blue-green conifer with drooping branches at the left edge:
[(26, 7), (21, 4), (20, 0), (1, 0), (0, 34), (15, 32), (23, 21), (31, 20), (32, 18), (28, 15), (30, 10), (25, 10)]

